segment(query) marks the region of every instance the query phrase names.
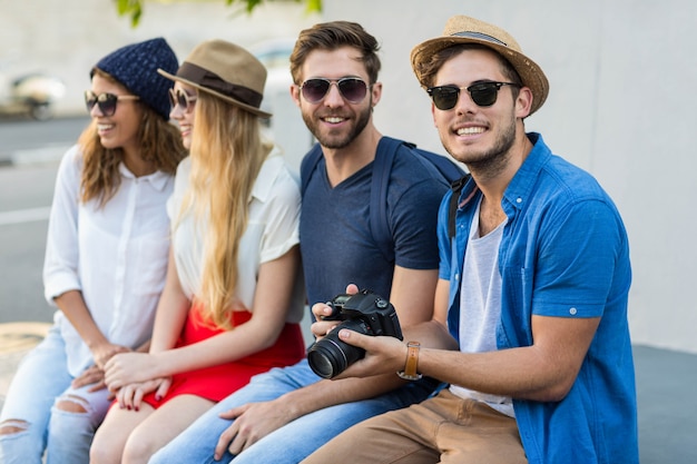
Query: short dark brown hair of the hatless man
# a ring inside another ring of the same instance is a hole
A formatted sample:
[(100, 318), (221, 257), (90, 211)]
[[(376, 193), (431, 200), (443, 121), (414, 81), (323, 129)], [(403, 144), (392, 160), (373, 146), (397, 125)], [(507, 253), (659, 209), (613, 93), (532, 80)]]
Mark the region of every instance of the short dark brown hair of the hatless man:
[(380, 72), (377, 40), (361, 24), (350, 21), (322, 22), (301, 31), (291, 53), (293, 81), (301, 83), (301, 68), (310, 52), (316, 49), (332, 51), (341, 47), (353, 47), (361, 52), (361, 61), (367, 71), (369, 83), (375, 83)]

